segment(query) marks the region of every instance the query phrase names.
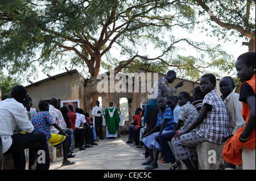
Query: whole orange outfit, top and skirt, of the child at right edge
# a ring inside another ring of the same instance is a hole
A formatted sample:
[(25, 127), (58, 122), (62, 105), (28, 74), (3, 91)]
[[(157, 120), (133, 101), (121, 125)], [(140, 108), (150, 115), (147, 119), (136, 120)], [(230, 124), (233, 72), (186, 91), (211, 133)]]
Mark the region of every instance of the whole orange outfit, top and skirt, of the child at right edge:
[[(243, 82), (245, 83), (245, 82)], [(246, 81), (254, 91), (255, 94), (255, 74), (250, 79), (250, 81)], [(243, 84), (242, 84), (243, 85)], [(241, 87), (242, 87), (241, 85)], [(242, 102), (242, 112), (241, 112), (243, 119), (245, 120), (245, 125), (250, 116), (250, 108), (248, 104)], [(232, 163), (233, 165), (241, 165), (242, 164), (242, 149), (247, 148), (249, 150), (255, 148), (255, 129), (251, 132), (249, 136), (249, 140), (245, 143), (242, 143), (239, 140), (240, 135), (242, 134), (245, 127), (237, 129), (237, 132), (234, 134), (233, 137), (229, 138), (222, 151), (222, 157), (226, 162)]]

